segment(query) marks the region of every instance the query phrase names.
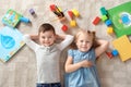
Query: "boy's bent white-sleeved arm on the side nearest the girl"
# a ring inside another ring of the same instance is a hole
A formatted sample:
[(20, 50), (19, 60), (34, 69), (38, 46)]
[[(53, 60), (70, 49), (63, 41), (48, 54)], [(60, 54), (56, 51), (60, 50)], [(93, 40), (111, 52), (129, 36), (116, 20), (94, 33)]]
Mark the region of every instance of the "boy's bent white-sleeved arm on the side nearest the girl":
[(57, 35), (57, 38), (62, 39), (62, 41), (58, 45), (58, 48), (63, 50), (73, 41), (74, 37), (71, 35)]

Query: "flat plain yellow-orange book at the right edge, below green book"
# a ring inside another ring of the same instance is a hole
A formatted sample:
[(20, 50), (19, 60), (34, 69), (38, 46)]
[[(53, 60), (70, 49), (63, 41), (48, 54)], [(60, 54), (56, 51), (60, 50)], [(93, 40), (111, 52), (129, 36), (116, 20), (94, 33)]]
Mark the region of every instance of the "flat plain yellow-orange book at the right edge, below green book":
[(114, 40), (112, 45), (118, 50), (121, 61), (131, 59), (131, 42), (127, 35)]

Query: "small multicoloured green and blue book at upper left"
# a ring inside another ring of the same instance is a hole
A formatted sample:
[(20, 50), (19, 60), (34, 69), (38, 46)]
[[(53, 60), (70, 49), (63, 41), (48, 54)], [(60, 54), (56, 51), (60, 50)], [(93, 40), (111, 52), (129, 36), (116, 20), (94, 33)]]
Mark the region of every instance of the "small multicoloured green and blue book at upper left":
[(10, 9), (2, 17), (2, 23), (10, 26), (15, 27), (22, 17), (21, 14)]

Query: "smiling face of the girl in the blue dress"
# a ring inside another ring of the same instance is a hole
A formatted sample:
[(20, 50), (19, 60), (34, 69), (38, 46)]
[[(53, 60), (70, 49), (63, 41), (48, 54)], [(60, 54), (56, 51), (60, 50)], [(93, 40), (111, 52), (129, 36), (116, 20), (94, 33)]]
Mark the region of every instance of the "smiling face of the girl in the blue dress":
[(93, 44), (93, 37), (87, 34), (81, 34), (76, 38), (76, 47), (80, 51), (86, 52), (91, 49)]

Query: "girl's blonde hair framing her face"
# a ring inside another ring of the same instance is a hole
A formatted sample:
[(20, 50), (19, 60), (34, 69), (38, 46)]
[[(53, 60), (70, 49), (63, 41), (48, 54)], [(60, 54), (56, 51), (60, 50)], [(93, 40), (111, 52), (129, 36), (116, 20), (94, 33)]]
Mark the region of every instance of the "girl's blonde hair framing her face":
[(96, 48), (96, 47), (99, 46), (99, 45), (97, 44), (97, 41), (96, 41), (95, 32), (81, 29), (81, 30), (78, 32), (76, 35), (74, 36), (74, 40), (73, 40), (73, 42), (70, 45), (70, 48), (71, 48), (71, 49), (78, 49), (75, 42), (76, 42), (79, 36), (82, 35), (82, 34), (87, 34), (87, 36), (91, 37), (91, 38), (93, 39), (93, 46), (92, 46), (92, 48)]

